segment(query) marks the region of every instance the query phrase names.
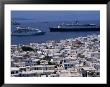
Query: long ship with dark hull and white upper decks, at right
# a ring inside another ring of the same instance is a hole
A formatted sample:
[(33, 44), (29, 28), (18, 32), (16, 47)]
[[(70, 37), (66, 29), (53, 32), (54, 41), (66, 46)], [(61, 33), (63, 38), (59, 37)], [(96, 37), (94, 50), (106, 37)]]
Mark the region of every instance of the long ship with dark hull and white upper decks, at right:
[(72, 24), (60, 24), (57, 27), (49, 27), (50, 32), (65, 31), (100, 31), (100, 26), (96, 24), (79, 24), (78, 21)]

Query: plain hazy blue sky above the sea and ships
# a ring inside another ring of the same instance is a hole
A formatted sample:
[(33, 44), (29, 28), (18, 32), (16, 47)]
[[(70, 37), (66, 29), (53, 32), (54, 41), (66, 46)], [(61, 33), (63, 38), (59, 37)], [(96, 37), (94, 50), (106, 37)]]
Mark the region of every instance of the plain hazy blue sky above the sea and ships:
[(11, 18), (38, 21), (100, 20), (100, 11), (12, 11)]

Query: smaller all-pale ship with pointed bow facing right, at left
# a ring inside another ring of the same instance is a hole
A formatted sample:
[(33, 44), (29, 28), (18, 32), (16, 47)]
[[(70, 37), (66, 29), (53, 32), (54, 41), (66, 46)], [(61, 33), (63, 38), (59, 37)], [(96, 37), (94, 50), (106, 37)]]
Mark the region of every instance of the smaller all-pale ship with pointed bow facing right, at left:
[(31, 27), (16, 27), (16, 30), (11, 32), (13, 36), (28, 36), (28, 35), (44, 35), (45, 32)]

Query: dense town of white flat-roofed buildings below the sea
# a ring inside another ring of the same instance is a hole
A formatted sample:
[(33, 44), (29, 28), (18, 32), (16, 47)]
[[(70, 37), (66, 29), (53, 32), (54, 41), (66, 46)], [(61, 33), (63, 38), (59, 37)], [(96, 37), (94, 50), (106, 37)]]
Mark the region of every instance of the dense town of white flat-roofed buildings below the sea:
[(12, 77), (100, 77), (100, 35), (11, 45)]

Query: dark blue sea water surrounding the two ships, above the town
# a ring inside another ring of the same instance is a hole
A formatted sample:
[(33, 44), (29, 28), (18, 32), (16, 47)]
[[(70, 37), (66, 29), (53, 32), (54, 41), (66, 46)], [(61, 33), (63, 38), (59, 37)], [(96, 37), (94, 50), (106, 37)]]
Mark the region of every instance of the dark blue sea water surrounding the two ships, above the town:
[[(35, 27), (39, 28), (42, 31), (45, 31), (45, 35), (38, 35), (38, 36), (11, 36), (11, 44), (29, 44), (29, 43), (42, 43), (48, 40), (61, 40), (67, 38), (75, 38), (80, 36), (87, 36), (92, 34), (100, 34), (100, 31), (91, 31), (91, 32), (49, 32), (50, 26), (57, 26), (61, 24), (60, 22), (37, 22), (37, 20), (16, 20), (21, 25), (20, 27)], [(64, 21), (63, 21), (64, 22)], [(65, 21), (64, 23), (72, 23)], [(80, 21), (79, 23), (93, 23), (98, 24), (99, 21)], [(16, 25), (18, 26), (18, 25)], [(15, 25), (12, 26), (12, 31), (15, 30)]]

